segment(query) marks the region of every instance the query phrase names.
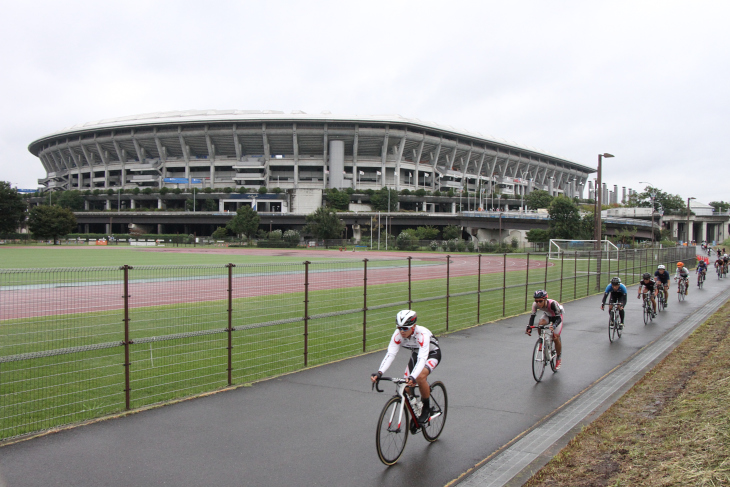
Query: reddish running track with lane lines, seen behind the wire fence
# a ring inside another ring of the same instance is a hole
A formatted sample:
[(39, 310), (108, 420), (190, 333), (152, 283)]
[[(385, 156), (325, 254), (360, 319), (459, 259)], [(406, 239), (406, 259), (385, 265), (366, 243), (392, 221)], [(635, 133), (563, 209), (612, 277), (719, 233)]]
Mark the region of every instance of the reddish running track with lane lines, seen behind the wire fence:
[[(268, 256), (301, 256), (303, 261), (309, 258), (328, 257), (337, 262), (315, 262), (309, 266), (309, 291), (326, 289), (342, 289), (363, 285), (362, 260), (393, 260), (397, 267), (369, 267), (367, 284), (393, 284), (407, 282), (407, 261), (402, 255), (368, 251), (362, 253), (332, 252), (322, 250), (234, 250), (234, 249), (202, 249), (202, 250), (152, 250), (162, 252), (194, 252), (235, 255), (268, 255)], [(342, 259), (352, 263), (342, 262)], [(235, 259), (232, 259), (235, 260)], [(397, 262), (396, 262), (397, 261)], [(411, 279), (421, 281), (446, 278), (446, 256), (443, 254), (418, 254), (414, 262), (426, 262), (411, 267)], [(358, 267), (352, 269), (352, 265)], [(429, 265), (430, 264), (430, 265)], [(372, 264), (371, 264), (372, 265)], [(553, 265), (549, 263), (549, 265)], [(482, 274), (501, 273), (505, 266), (502, 255), (482, 255)], [(256, 267), (256, 266), (251, 266)], [(236, 275), (233, 273), (233, 297), (252, 297), (304, 292), (304, 270), (301, 264), (261, 265), (261, 273)], [(526, 260), (507, 257), (507, 270), (524, 270)], [(530, 269), (544, 268), (544, 260), (530, 260)], [(274, 271), (272, 272), (272, 269)], [(450, 257), (449, 275), (451, 277), (474, 276), (478, 272), (476, 256), (454, 255)], [(171, 272), (178, 272), (170, 277)], [(185, 274), (183, 274), (185, 272)], [(194, 269), (181, 267), (170, 271), (161, 270), (159, 279), (135, 281), (132, 274), (129, 282), (129, 306), (141, 308), (178, 303), (196, 303), (227, 299), (227, 273), (221, 271), (220, 276), (191, 275)], [(150, 282), (152, 281), (152, 282)], [(98, 311), (120, 310), (124, 308), (122, 281), (118, 283), (78, 283), (64, 284), (58, 287), (32, 288), (20, 286), (16, 290), (3, 290), (0, 293), (2, 306), (0, 320), (31, 318), (39, 316), (69, 315)]]

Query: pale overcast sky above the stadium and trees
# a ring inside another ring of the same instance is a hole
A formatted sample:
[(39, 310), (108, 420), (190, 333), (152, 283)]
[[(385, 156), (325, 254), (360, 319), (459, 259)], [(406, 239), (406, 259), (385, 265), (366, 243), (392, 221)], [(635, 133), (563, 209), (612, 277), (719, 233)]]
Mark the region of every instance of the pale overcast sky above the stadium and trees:
[[(0, 180), (71, 125), (187, 109), (399, 114), (730, 200), (730, 2), (24, 1), (0, 30)], [(587, 194), (586, 194), (587, 196)]]

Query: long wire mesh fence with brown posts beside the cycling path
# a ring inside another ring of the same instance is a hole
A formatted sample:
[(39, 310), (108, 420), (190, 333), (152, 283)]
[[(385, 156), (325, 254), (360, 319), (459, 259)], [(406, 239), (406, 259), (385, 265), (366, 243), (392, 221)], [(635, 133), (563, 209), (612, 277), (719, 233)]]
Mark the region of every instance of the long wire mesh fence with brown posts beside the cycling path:
[(695, 263), (616, 255), (0, 270), (0, 439), (381, 349), (403, 308), (440, 334)]

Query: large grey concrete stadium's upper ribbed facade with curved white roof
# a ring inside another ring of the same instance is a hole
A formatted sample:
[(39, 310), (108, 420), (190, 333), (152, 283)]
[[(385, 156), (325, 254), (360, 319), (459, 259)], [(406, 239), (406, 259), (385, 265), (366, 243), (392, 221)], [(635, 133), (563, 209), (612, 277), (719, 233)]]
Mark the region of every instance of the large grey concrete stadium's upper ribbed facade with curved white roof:
[(29, 146), (47, 189), (281, 188), (308, 211), (329, 188), (583, 197), (595, 170), (532, 147), (400, 116), (204, 110), (90, 122)]

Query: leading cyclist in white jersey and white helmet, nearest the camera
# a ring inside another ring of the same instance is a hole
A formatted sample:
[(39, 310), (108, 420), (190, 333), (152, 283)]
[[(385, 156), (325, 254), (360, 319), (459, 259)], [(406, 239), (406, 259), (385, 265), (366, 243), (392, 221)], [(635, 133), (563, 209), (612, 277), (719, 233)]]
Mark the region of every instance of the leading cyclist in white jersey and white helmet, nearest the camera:
[[(410, 309), (399, 311), (395, 317), (396, 330), (390, 339), (388, 351), (385, 358), (378, 367), (378, 372), (372, 374), (370, 380), (377, 381), (393, 363), (401, 347), (411, 351), (411, 359), (406, 366), (405, 376), (408, 378), (408, 385), (418, 388), (421, 391), (423, 408), (418, 417), (420, 424), (428, 421), (431, 416), (431, 388), (428, 385), (428, 376), (441, 362), (441, 348), (438, 338), (433, 336), (428, 328), (416, 326), (416, 312)], [(407, 389), (408, 393), (411, 392)]]

